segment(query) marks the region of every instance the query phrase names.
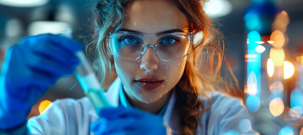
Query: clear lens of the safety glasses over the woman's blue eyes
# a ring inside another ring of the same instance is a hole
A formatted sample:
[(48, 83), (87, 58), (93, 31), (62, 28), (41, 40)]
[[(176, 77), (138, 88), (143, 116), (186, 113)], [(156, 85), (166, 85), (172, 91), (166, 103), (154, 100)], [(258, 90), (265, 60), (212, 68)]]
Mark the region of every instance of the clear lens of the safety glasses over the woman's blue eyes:
[(140, 34), (115, 32), (108, 37), (109, 52), (122, 59), (136, 60), (152, 47), (162, 60), (175, 60), (189, 54), (194, 33)]

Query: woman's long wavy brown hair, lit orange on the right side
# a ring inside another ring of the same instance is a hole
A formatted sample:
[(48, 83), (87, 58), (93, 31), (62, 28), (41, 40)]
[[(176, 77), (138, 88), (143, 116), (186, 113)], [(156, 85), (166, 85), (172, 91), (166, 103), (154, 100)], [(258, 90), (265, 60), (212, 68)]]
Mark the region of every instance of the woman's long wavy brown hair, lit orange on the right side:
[[(111, 81), (112, 56), (106, 48), (106, 37), (122, 24), (124, 5), (130, 0), (99, 0), (93, 10), (94, 34), (87, 45), (91, 64), (101, 82), (106, 86)], [(206, 0), (170, 0), (187, 16), (190, 30), (195, 36), (192, 52), (187, 56), (185, 70), (181, 80), (176, 85), (176, 118), (182, 128), (179, 132), (185, 135), (195, 135), (201, 124), (202, 114), (211, 107), (209, 93), (221, 91), (237, 97), (243, 97), (239, 90), (237, 79), (228, 62), (226, 70), (221, 70), (224, 56), (224, 42), (218, 27), (205, 14), (203, 5)], [(203, 54), (204, 53), (204, 54)], [(206, 58), (204, 56), (207, 56)], [(201, 70), (201, 68), (205, 70)], [(224, 77), (222, 77), (224, 75)], [(204, 107), (203, 96), (209, 100), (210, 106)]]

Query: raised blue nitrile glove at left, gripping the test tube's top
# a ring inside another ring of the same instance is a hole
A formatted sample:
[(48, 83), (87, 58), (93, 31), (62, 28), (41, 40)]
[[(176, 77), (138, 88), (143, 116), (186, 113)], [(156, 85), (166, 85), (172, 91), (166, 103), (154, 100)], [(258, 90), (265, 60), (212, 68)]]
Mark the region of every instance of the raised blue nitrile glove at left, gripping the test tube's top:
[(23, 124), (31, 107), (56, 81), (74, 73), (82, 44), (60, 35), (21, 39), (7, 50), (0, 75), (0, 130)]

